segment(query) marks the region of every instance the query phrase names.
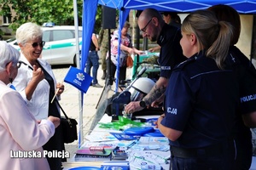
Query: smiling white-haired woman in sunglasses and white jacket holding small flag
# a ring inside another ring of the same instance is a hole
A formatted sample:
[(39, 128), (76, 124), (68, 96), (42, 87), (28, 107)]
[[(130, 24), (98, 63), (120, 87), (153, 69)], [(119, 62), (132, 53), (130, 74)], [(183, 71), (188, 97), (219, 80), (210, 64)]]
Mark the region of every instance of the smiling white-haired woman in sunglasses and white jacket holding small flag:
[[(13, 82), (16, 90), (26, 101), (29, 111), (37, 120), (44, 120), (48, 116), (61, 117), (56, 102), (50, 102), (57, 91), (57, 99), (64, 90), (61, 83), (55, 82), (50, 65), (40, 59), (44, 47), (43, 31), (34, 23), (25, 23), (16, 31), (16, 39), (20, 46), (20, 62), (18, 75)], [(44, 58), (44, 56), (43, 56)], [(56, 128), (55, 135), (43, 146), (44, 150), (65, 150), (61, 126)], [(49, 158), (52, 170), (61, 169), (61, 158)]]

